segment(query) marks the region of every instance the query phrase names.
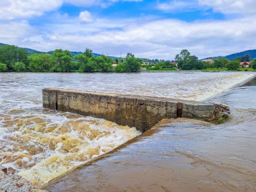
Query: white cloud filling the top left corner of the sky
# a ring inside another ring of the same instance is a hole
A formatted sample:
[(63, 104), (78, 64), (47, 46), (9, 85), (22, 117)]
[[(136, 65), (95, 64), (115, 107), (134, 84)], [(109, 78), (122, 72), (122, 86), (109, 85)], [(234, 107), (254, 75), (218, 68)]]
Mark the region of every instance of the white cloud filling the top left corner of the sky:
[(30, 18), (61, 6), (62, 0), (1, 0), (0, 20)]

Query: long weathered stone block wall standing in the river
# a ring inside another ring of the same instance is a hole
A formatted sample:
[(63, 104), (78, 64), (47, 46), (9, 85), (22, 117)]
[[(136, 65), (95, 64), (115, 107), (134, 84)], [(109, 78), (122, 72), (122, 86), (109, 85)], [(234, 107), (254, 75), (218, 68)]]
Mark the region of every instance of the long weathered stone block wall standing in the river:
[(162, 119), (183, 117), (212, 121), (219, 113), (216, 104), (59, 88), (42, 90), (42, 101), (45, 108), (102, 118), (136, 127), (141, 132)]

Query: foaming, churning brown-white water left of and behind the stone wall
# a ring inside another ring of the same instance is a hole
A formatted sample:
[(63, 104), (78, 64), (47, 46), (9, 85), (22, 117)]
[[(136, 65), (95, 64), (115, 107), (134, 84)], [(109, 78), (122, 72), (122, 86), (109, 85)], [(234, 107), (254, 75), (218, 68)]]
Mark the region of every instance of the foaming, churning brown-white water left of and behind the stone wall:
[(42, 185), (140, 133), (104, 119), (42, 108), (42, 88), (203, 100), (247, 73), (0, 73), (0, 164)]

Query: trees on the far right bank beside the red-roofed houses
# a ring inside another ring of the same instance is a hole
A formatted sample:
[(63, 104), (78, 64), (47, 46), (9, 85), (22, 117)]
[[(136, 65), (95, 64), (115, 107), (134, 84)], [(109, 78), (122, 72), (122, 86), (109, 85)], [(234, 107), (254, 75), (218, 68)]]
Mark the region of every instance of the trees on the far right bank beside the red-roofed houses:
[[(226, 58), (214, 59), (213, 62), (199, 61), (198, 57), (191, 55), (189, 51), (183, 50), (181, 53), (176, 55), (175, 61), (178, 63), (178, 68), (182, 70), (194, 70), (194, 69), (228, 69), (228, 70), (237, 70), (240, 67), (240, 62), (249, 62), (249, 55), (244, 57), (237, 57), (232, 61), (229, 61)], [(250, 67), (256, 69), (256, 59), (251, 61)]]

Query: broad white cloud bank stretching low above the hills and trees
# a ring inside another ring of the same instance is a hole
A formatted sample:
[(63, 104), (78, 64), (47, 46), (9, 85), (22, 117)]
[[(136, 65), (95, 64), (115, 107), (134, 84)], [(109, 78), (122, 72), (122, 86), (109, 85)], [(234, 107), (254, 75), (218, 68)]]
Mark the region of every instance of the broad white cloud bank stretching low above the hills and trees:
[(131, 52), (137, 57), (152, 59), (174, 59), (182, 49), (189, 49), (202, 59), (256, 47), (256, 42), (252, 42), (256, 39), (253, 17), (199, 22), (167, 19), (143, 24), (136, 19), (97, 18), (93, 23), (69, 20), (43, 28), (43, 32), (19, 44), (40, 51), (58, 48), (84, 51), (90, 48), (106, 55), (125, 56), (125, 53)]

